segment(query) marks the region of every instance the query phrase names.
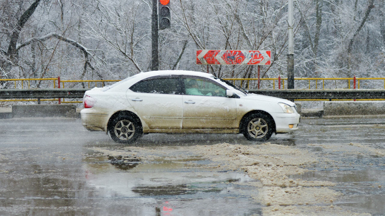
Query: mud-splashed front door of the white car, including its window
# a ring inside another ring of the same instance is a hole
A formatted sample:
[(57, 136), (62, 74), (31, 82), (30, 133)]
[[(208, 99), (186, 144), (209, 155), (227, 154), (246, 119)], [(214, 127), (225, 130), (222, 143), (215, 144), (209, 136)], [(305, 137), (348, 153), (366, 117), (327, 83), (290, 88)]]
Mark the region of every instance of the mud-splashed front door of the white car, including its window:
[(182, 76), (182, 129), (234, 129), (235, 98), (226, 97), (226, 88), (213, 80)]

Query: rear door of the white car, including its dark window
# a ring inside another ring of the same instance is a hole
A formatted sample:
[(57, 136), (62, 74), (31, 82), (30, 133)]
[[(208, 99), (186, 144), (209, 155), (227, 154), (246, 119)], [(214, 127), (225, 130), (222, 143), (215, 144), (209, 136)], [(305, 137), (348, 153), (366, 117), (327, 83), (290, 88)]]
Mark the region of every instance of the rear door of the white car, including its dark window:
[(127, 90), (127, 99), (149, 129), (181, 129), (182, 95), (175, 76), (156, 76), (139, 81)]

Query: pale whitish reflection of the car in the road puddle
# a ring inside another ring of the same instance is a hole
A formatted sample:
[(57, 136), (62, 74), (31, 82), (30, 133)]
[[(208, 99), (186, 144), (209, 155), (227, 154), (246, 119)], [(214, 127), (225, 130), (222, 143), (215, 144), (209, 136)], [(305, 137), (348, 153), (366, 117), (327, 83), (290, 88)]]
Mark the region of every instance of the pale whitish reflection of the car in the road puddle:
[[(191, 161), (196, 161), (196, 158), (191, 158)], [(99, 163), (100, 161), (97, 164)], [(102, 186), (116, 191), (123, 196), (137, 196), (135, 193), (141, 196), (172, 196), (194, 194), (198, 191), (217, 193), (223, 186), (227, 187), (226, 184), (253, 181), (245, 174), (233, 172), (187, 172), (184, 165), (178, 161), (130, 163), (135, 164), (130, 166), (122, 160), (110, 160), (108, 165), (104, 166), (87, 164), (87, 182), (97, 188)], [(110, 178), (112, 175), (114, 178)]]

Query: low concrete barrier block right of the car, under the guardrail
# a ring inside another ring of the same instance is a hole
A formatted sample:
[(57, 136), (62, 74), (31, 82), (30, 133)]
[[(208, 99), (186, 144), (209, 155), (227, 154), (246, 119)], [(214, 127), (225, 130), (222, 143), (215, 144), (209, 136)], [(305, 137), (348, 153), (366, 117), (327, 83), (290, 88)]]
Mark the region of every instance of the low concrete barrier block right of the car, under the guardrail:
[(385, 115), (385, 101), (325, 101), (325, 116)]

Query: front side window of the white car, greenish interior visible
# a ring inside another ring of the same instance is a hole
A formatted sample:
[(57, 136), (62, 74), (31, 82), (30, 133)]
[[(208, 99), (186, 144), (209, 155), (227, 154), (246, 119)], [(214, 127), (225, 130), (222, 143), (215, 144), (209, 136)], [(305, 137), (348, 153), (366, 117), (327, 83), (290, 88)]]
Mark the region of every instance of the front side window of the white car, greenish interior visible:
[(226, 96), (226, 89), (202, 78), (184, 78), (186, 95)]

